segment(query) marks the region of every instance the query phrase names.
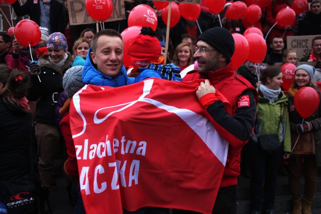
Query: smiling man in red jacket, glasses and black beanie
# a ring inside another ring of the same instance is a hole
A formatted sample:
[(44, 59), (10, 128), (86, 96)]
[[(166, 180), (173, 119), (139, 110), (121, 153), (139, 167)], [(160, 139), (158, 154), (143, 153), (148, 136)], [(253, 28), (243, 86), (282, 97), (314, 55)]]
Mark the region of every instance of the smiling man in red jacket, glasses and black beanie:
[[(187, 73), (183, 81), (205, 79), (196, 95), (206, 117), (229, 143), (227, 161), (213, 213), (236, 213), (236, 184), (240, 174), (241, 149), (249, 140), (255, 123), (258, 94), (255, 88), (232, 69), (235, 45), (231, 33), (220, 27), (205, 31), (194, 47), (198, 70)], [(229, 101), (232, 114), (216, 97), (219, 91)], [(173, 210), (173, 213), (193, 213)]]

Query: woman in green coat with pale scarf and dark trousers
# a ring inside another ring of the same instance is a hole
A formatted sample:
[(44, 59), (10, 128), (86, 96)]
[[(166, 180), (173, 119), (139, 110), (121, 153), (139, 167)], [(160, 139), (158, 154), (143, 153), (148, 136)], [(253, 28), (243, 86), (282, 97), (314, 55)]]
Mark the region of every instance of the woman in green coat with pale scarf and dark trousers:
[[(251, 154), (251, 208), (252, 214), (262, 210), (262, 184), (264, 180), (264, 213), (273, 214), (277, 172), (281, 160), (290, 155), (290, 124), (287, 111), (287, 98), (281, 91), (282, 72), (279, 68), (267, 68), (261, 75), (257, 88), (259, 102), (255, 129), (249, 141)], [(260, 136), (277, 134), (278, 148), (273, 154), (266, 154), (260, 146)], [(258, 140), (259, 139), (259, 140)]]

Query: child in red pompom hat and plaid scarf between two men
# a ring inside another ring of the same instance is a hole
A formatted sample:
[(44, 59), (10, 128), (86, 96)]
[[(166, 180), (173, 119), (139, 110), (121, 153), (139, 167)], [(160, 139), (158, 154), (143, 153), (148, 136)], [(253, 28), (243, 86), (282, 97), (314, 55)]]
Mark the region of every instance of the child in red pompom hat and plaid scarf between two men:
[(128, 56), (133, 69), (128, 76), (135, 77), (135, 82), (150, 77), (181, 81), (179, 67), (174, 64), (163, 65), (161, 44), (155, 35), (150, 27), (142, 27), (141, 33), (129, 43)]

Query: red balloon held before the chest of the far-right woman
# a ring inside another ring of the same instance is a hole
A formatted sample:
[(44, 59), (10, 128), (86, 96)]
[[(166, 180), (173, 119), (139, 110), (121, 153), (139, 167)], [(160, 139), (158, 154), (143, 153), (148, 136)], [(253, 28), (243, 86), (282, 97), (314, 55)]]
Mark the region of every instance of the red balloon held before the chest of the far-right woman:
[(294, 96), (294, 108), (303, 118), (311, 116), (317, 109), (320, 98), (311, 87), (300, 88)]

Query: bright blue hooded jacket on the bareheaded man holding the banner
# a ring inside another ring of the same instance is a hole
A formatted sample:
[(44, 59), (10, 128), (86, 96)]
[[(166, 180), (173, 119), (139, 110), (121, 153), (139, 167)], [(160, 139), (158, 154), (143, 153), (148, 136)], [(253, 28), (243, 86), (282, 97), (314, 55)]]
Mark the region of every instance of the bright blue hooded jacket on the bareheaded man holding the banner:
[(96, 86), (110, 86), (119, 87), (124, 85), (129, 85), (134, 82), (134, 78), (127, 76), (127, 72), (124, 66), (122, 66), (121, 71), (116, 77), (109, 77), (96, 69), (96, 66), (92, 63), (90, 52), (92, 52), (91, 47), (89, 48), (84, 69), (82, 71), (82, 81), (85, 84), (93, 84)]

